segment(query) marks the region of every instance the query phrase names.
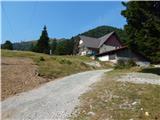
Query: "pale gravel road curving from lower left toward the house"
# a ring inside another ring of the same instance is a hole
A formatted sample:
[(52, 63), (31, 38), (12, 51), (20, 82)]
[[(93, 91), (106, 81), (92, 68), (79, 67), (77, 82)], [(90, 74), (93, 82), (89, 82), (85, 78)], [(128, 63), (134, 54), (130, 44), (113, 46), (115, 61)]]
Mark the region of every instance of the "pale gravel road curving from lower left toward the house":
[(66, 120), (79, 103), (78, 97), (110, 70), (70, 75), (10, 97), (2, 102), (2, 119)]

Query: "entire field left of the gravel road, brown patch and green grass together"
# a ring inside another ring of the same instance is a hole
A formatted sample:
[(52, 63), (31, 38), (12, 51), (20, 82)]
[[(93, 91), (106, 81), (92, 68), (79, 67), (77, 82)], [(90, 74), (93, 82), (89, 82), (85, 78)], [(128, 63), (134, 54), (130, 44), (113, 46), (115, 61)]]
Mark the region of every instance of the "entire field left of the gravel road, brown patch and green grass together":
[[(101, 69), (85, 64), (85, 56), (50, 56), (26, 51), (2, 50), (2, 100), (74, 73)], [(105, 67), (105, 66), (104, 66)]]

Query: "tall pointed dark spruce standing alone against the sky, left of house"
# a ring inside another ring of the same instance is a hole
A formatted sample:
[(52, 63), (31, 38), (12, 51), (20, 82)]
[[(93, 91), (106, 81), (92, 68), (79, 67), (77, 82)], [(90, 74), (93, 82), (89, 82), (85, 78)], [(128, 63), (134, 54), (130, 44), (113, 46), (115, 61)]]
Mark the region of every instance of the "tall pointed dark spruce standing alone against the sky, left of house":
[(47, 33), (47, 27), (44, 26), (40, 39), (36, 45), (36, 52), (49, 54), (49, 37)]

